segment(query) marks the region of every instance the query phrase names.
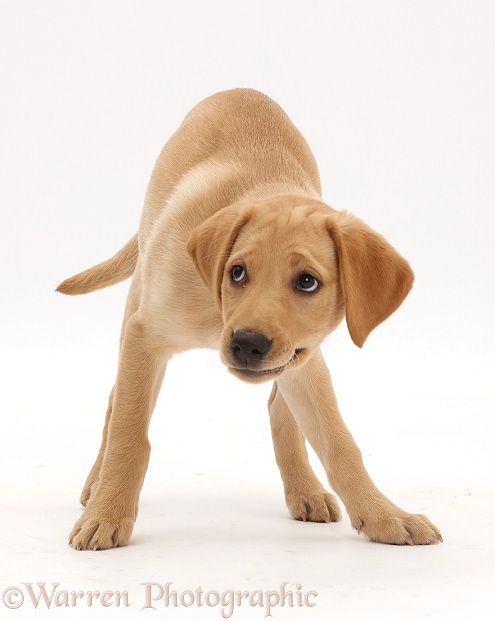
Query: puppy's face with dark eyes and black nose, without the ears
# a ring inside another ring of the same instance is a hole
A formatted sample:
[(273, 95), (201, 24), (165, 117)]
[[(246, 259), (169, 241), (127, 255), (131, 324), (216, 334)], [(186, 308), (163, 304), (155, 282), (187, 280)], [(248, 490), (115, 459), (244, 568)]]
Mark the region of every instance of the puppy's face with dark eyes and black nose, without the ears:
[(254, 206), (222, 274), (220, 355), (249, 382), (304, 364), (344, 316), (324, 214), (291, 202)]

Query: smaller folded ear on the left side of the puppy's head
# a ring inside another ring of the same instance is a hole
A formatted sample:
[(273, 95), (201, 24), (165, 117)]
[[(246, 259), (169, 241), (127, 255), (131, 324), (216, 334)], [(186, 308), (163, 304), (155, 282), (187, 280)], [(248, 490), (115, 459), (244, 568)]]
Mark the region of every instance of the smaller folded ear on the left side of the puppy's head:
[(193, 229), (187, 252), (205, 285), (221, 306), (222, 277), (225, 264), (242, 227), (252, 216), (252, 208), (224, 207)]

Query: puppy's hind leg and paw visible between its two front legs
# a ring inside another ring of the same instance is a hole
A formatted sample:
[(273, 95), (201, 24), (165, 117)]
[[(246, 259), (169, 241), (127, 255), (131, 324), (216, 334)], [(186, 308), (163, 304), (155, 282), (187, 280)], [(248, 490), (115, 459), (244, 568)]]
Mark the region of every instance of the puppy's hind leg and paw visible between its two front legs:
[(337, 499), (317, 479), (308, 461), (304, 436), (274, 382), (268, 401), (275, 459), (290, 514), (304, 522), (338, 522)]

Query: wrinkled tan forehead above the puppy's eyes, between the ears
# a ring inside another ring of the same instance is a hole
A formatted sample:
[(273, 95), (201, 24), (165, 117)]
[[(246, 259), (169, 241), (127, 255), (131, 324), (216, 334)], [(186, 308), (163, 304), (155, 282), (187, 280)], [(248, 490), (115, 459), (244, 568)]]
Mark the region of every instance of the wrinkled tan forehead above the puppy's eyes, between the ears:
[(231, 256), (273, 265), (319, 264), (331, 269), (336, 252), (325, 226), (325, 213), (306, 205), (261, 206), (239, 231)]

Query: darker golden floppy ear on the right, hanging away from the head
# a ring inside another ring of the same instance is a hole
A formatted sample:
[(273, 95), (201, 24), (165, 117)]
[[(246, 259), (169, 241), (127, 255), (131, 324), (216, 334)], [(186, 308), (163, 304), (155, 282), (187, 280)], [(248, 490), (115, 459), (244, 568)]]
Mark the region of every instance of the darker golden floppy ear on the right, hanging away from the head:
[(401, 305), (414, 274), (381, 235), (353, 215), (336, 212), (327, 217), (327, 228), (339, 257), (347, 327), (362, 347), (369, 333)]

